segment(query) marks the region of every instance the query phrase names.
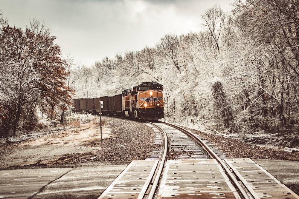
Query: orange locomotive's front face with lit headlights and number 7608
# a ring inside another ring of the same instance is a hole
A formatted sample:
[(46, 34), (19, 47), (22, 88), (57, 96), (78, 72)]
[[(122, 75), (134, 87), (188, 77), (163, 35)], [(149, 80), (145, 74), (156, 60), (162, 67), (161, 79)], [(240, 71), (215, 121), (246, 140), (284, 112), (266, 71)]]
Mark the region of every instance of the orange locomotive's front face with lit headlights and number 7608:
[(163, 86), (157, 82), (144, 82), (137, 86), (139, 118), (158, 120), (164, 117)]

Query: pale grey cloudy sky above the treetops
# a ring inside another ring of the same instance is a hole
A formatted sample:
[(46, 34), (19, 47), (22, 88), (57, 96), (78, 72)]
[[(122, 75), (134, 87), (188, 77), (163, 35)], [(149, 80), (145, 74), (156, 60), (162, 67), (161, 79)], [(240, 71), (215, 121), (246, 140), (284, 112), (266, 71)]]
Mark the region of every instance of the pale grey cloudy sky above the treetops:
[(91, 66), (117, 53), (154, 47), (166, 34), (199, 31), (201, 14), (215, 4), (230, 12), (234, 0), (0, 0), (10, 26), (43, 21), (62, 54)]

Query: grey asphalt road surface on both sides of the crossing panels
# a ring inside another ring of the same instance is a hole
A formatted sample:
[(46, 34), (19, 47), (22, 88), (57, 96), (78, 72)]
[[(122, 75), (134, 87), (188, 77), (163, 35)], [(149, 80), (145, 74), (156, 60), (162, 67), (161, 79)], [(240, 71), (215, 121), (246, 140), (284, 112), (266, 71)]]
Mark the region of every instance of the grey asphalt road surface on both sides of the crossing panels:
[[(299, 162), (254, 161), (298, 194)], [(0, 170), (0, 198), (98, 198), (128, 164), (98, 162), (73, 168)]]

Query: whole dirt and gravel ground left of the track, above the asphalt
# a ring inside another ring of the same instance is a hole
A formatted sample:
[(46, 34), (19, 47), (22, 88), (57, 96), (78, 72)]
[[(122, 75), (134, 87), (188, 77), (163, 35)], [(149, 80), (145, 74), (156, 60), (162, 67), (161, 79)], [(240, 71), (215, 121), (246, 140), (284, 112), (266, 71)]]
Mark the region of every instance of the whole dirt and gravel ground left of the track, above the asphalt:
[(0, 139), (0, 170), (65, 167), (98, 161), (144, 160), (154, 147), (155, 133), (142, 122), (104, 117), (56, 129)]

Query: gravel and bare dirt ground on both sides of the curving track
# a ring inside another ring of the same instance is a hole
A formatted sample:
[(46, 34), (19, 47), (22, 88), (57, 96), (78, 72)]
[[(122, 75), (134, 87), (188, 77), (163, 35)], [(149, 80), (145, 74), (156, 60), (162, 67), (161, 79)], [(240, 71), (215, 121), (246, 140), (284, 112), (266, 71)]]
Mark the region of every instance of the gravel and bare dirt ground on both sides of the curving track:
[[(100, 128), (92, 122), (81, 127), (31, 133), (33, 137), (30, 139), (28, 136), (27, 140), (22, 136), (20, 139), (10, 139), (10, 144), (0, 145), (0, 169), (22, 166), (66, 166), (96, 161), (144, 160), (150, 156), (155, 147), (155, 132), (152, 128), (142, 122), (126, 119), (103, 117), (103, 121), (105, 135), (103, 145), (100, 140)], [(299, 161), (299, 152), (286, 152), (269, 146), (254, 146), (237, 139), (192, 129), (191, 131), (218, 146), (228, 158)], [(39, 136), (36, 137), (36, 134)], [(74, 138), (77, 138), (76, 142)], [(57, 153), (54, 153), (55, 151)]]

